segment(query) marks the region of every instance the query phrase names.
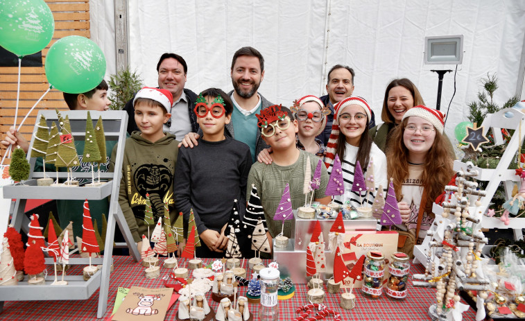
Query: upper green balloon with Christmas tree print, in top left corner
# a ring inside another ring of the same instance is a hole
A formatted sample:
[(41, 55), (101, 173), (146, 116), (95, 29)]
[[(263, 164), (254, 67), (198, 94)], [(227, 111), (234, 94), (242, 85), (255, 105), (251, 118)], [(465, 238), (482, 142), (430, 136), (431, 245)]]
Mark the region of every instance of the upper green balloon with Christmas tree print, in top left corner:
[(0, 0), (0, 45), (20, 58), (46, 48), (54, 31), (44, 0)]

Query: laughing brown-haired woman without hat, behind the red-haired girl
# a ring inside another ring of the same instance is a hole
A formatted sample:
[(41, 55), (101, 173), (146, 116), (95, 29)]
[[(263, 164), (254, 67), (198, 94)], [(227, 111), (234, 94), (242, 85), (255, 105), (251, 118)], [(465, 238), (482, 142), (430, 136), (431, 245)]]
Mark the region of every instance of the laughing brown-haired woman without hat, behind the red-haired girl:
[[(380, 150), (386, 153), (393, 130), (401, 123), (404, 114), (418, 105), (424, 105), (423, 97), (418, 87), (415, 87), (408, 78), (394, 79), (386, 86), (383, 110), (381, 110), (383, 123), (370, 129), (370, 136)], [(443, 138), (447, 143), (447, 148), (454, 156), (454, 148), (448, 137), (443, 135)]]

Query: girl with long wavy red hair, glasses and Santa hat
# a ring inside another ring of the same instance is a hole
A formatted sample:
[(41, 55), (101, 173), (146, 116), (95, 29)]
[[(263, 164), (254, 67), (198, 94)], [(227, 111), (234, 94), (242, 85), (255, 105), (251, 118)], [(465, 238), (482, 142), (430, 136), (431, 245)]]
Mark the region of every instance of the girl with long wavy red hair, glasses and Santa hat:
[(403, 223), (398, 250), (413, 256), (434, 220), (432, 203), (450, 181), (453, 156), (443, 135), (443, 114), (419, 105), (405, 112), (387, 150), (388, 177), (393, 178)]

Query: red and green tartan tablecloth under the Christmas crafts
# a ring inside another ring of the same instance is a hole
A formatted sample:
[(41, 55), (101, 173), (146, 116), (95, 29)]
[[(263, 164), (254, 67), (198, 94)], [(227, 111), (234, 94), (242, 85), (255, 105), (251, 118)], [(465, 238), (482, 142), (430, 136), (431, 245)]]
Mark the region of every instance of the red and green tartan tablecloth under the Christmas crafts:
[[(132, 260), (131, 257), (115, 256), (114, 272), (111, 274), (110, 292), (107, 299), (107, 312), (101, 320), (106, 320), (113, 309), (115, 295), (119, 286), (129, 288), (130, 286), (142, 286), (146, 288), (160, 288), (164, 286), (164, 279), (171, 270), (161, 268), (160, 278), (146, 279), (144, 277), (144, 268)], [(161, 259), (163, 261), (163, 259)], [(205, 259), (205, 263), (211, 263), (211, 259)], [(264, 261), (268, 263), (268, 261)], [(302, 263), (302, 262), (300, 262)], [(179, 261), (180, 266), (184, 266), (184, 259)], [(74, 266), (68, 271), (69, 275), (82, 274), (83, 266)], [(251, 275), (248, 270), (248, 261), (244, 263), (243, 268)], [(48, 266), (49, 272), (53, 271), (53, 266)], [(422, 273), (424, 268), (420, 264), (411, 267), (411, 274)], [(0, 290), (1, 286), (0, 286)], [(240, 287), (240, 294), (246, 294), (247, 287)], [(279, 320), (293, 320), (299, 314), (295, 309), (307, 304), (307, 286), (306, 284), (296, 285), (295, 295), (286, 301), (279, 301)], [(379, 299), (369, 299), (361, 293), (361, 289), (355, 289), (357, 297), (356, 308), (351, 311), (343, 310), (339, 307), (339, 294), (329, 294), (326, 286), (326, 297), (324, 304), (341, 313), (342, 320), (430, 320), (427, 311), (429, 306), (435, 302), (435, 289), (414, 288), (412, 281), (408, 281), (408, 296), (406, 299), (397, 301), (390, 299), (383, 294)], [(42, 298), (45, 299), (45, 298)], [(207, 293), (207, 300), (212, 309), (217, 308), (217, 303), (211, 300), (211, 293)], [(463, 302), (463, 301), (462, 301)], [(463, 302), (465, 303), (465, 302)], [(88, 300), (78, 301), (9, 301), (5, 302), (3, 312), (0, 313), (0, 320), (97, 320), (96, 310), (98, 304), (98, 291)], [(254, 320), (259, 320), (257, 316), (258, 305), (250, 304), (250, 311), (254, 313)], [(178, 303), (166, 314), (165, 320), (175, 320)], [(463, 320), (474, 320), (475, 313), (471, 309), (463, 313)], [(329, 317), (325, 320), (333, 320)]]

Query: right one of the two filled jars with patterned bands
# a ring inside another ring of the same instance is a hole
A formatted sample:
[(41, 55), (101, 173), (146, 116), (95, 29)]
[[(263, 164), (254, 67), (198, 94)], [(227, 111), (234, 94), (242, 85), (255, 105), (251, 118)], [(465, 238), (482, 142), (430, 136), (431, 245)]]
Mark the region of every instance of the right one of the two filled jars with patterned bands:
[(406, 281), (408, 281), (408, 273), (410, 272), (408, 255), (403, 252), (393, 253), (392, 263), (388, 267), (388, 272), (390, 272), (390, 276), (386, 284), (386, 294), (394, 299), (404, 299), (408, 293)]

